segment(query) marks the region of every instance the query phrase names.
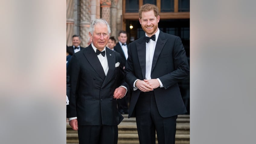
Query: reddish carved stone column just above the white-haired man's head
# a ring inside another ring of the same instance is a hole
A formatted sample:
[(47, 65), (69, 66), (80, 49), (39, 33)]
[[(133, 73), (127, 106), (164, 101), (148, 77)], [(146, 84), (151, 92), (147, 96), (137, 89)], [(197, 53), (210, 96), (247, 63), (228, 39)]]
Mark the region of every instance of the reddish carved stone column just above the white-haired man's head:
[(101, 0), (101, 18), (110, 25), (111, 0)]

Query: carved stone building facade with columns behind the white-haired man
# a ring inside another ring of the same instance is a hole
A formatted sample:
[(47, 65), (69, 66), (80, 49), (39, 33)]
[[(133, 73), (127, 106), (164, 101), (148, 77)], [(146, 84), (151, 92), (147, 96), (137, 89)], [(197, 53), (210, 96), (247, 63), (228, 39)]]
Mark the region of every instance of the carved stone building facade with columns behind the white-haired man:
[(66, 0), (67, 46), (72, 45), (72, 36), (78, 34), (81, 46), (88, 46), (90, 23), (95, 18), (105, 19), (111, 28), (111, 36), (117, 38), (122, 30), (122, 0)]

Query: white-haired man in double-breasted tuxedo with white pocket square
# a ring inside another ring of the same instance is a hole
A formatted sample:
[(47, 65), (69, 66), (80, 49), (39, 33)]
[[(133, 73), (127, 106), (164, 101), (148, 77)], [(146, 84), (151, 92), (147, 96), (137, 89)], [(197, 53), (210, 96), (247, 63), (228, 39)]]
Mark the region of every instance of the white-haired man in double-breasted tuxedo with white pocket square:
[(117, 99), (127, 92), (119, 53), (106, 47), (107, 21), (95, 19), (89, 28), (92, 43), (69, 63), (69, 125), (78, 130), (79, 144), (117, 144), (117, 125), (123, 116)]

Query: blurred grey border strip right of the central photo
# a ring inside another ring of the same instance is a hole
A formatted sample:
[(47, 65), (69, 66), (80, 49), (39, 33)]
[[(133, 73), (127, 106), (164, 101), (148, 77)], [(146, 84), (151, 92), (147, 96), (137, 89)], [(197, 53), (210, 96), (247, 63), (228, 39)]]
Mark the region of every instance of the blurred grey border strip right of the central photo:
[(255, 1), (190, 1), (190, 143), (255, 143)]

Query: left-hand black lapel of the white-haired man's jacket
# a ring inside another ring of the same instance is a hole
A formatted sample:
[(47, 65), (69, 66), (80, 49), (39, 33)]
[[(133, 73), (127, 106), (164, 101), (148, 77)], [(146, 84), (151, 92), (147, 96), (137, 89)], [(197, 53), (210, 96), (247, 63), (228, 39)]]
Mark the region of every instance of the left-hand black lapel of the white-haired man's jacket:
[(84, 52), (84, 55), (85, 55), (86, 59), (88, 60), (88, 62), (91, 64), (92, 68), (96, 71), (96, 73), (98, 73), (98, 75), (101, 77), (101, 79), (104, 80), (106, 75), (101, 66), (101, 62), (98, 59), (98, 56), (94, 52), (93, 48), (89, 47), (88, 51)]

